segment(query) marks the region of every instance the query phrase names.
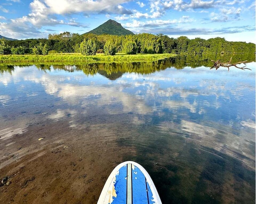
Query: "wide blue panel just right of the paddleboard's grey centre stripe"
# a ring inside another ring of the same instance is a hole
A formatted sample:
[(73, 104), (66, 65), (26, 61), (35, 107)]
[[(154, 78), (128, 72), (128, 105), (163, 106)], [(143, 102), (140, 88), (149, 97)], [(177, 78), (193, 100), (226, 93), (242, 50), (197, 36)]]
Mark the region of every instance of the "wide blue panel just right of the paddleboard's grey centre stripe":
[(146, 192), (146, 179), (139, 168), (135, 166), (132, 170), (132, 195), (133, 204), (148, 204), (148, 195)]

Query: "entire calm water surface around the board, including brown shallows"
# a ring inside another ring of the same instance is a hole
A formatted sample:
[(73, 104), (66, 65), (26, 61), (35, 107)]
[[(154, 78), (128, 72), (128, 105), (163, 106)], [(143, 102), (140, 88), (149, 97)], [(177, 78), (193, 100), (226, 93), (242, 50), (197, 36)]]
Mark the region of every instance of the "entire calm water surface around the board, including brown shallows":
[(255, 203), (256, 63), (247, 67), (4, 66), (1, 200), (96, 203), (112, 169), (133, 160), (163, 203)]

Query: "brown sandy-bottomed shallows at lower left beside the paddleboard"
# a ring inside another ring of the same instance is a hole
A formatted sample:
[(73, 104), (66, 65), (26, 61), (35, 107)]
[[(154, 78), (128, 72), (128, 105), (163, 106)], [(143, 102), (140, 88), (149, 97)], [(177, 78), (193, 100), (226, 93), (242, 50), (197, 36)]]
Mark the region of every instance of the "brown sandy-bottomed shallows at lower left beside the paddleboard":
[(9, 185), (0, 187), (1, 203), (96, 203), (124, 151), (113, 130), (98, 126), (38, 123), (2, 140), (0, 175)]

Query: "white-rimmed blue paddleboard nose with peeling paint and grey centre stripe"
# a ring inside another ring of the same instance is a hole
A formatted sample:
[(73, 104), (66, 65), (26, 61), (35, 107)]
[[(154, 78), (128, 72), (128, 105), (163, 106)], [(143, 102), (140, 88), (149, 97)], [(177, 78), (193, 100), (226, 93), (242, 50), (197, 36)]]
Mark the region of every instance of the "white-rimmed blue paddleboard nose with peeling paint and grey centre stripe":
[(134, 161), (116, 166), (97, 204), (162, 204), (148, 172)]

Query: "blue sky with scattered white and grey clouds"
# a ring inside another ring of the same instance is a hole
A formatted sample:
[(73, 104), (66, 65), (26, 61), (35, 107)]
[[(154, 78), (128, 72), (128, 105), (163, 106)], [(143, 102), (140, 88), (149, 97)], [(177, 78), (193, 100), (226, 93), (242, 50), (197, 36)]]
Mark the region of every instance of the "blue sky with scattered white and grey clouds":
[(108, 19), (135, 34), (256, 43), (255, 0), (0, 0), (0, 35), (83, 34)]

